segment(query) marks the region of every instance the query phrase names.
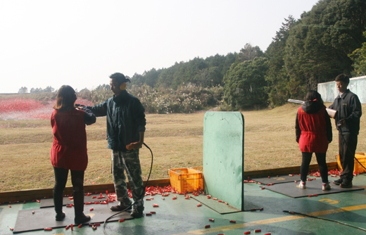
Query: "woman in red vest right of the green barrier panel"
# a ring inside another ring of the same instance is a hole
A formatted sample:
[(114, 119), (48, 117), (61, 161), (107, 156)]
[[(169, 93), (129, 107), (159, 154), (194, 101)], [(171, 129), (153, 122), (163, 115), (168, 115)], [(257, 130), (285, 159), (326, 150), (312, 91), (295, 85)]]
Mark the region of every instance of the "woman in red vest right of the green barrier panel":
[(322, 96), (317, 91), (308, 91), (305, 96), (305, 103), (298, 108), (296, 142), (298, 142), (300, 151), (303, 153), (300, 189), (306, 189), (306, 177), (311, 157), (315, 153), (322, 177), (322, 190), (330, 190), (325, 158), (328, 144), (332, 142), (332, 123), (322, 101)]

